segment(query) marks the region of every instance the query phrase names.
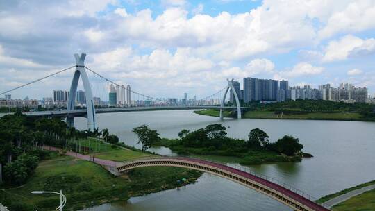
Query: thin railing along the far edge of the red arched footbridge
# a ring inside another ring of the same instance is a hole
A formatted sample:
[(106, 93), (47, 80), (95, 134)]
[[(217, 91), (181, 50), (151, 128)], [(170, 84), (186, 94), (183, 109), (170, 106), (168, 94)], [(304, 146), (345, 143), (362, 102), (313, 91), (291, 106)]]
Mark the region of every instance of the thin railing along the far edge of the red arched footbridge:
[[(159, 159), (159, 158), (172, 158), (173, 159), (173, 158), (194, 158), (194, 157), (178, 155), (178, 156), (161, 156), (161, 157), (153, 157), (153, 158), (142, 158), (142, 160), (152, 160), (152, 159)], [(298, 189), (297, 187), (294, 187), (294, 186), (289, 185), (287, 183), (283, 183), (280, 180), (277, 180), (276, 178), (272, 178), (272, 177), (267, 176), (265, 174), (260, 174), (256, 171), (251, 171), (249, 168), (243, 167), (240, 164), (233, 164), (231, 162), (217, 162), (217, 161), (213, 161), (213, 160), (205, 160), (205, 159), (202, 159), (202, 158), (197, 158), (197, 159), (203, 160), (203, 161), (208, 161), (208, 162), (213, 162), (213, 163), (217, 163), (217, 164), (222, 164), (226, 167), (232, 167), (233, 169), (238, 169), (240, 171), (247, 172), (249, 174), (252, 174), (253, 176), (257, 176), (258, 178), (263, 178), (264, 180), (267, 180), (271, 183), (280, 185), (281, 187), (284, 187), (285, 189), (289, 189), (291, 192), (299, 194), (300, 196), (303, 196), (310, 201), (317, 201), (318, 200), (317, 197), (311, 196), (310, 194), (307, 194), (306, 192), (303, 192), (301, 189)], [(135, 161), (138, 161), (138, 160), (125, 160), (124, 163), (135, 162)], [(320, 203), (320, 205), (324, 206), (324, 208), (330, 208), (326, 203)]]

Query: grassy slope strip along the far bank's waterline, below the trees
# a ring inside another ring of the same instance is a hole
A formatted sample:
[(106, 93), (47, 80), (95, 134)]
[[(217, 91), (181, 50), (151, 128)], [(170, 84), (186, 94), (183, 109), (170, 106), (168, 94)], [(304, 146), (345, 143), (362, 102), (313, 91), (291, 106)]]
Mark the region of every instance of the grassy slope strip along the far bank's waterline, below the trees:
[[(194, 113), (211, 117), (219, 117), (216, 110), (198, 110)], [(224, 117), (231, 117), (224, 115)], [(242, 115), (244, 119), (308, 119), (308, 120), (342, 120), (342, 121), (369, 121), (358, 112), (272, 112), (247, 111)]]

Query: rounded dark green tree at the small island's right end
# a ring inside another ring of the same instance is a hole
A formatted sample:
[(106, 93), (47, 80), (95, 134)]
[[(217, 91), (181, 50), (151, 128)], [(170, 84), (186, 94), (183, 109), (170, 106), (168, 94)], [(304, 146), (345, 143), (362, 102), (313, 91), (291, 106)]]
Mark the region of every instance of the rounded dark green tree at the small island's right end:
[(274, 149), (277, 153), (283, 153), (288, 156), (300, 152), (302, 148), (303, 145), (299, 144), (299, 139), (290, 135), (285, 135), (274, 143)]

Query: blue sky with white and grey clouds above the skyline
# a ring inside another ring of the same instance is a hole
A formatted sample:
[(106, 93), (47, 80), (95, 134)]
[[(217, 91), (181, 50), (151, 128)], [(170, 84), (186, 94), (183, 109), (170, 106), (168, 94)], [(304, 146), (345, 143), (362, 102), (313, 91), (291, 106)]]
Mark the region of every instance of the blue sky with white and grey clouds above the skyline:
[[(199, 99), (244, 77), (375, 94), (374, 20), (375, 0), (0, 0), (0, 92), (85, 52), (86, 67), (149, 96)], [(52, 96), (73, 73), (10, 94)], [(109, 84), (89, 78), (105, 96)]]

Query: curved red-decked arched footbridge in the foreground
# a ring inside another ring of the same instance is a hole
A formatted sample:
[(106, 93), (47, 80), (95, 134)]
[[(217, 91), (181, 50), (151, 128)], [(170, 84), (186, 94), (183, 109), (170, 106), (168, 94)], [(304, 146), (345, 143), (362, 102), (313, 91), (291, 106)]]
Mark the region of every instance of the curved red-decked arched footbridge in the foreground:
[(324, 206), (315, 203), (314, 198), (308, 194), (304, 194), (298, 189), (284, 187), (276, 180), (256, 176), (246, 171), (228, 167), (225, 164), (210, 162), (206, 160), (199, 160), (197, 158), (184, 157), (162, 157), (149, 158), (142, 160), (133, 160), (117, 165), (117, 171), (126, 172), (130, 169), (138, 167), (182, 167), (187, 169), (194, 169), (198, 171), (207, 172), (235, 183), (244, 185), (256, 190), (266, 196), (269, 196), (276, 201), (287, 205), (288, 207), (297, 211), (328, 211)]

